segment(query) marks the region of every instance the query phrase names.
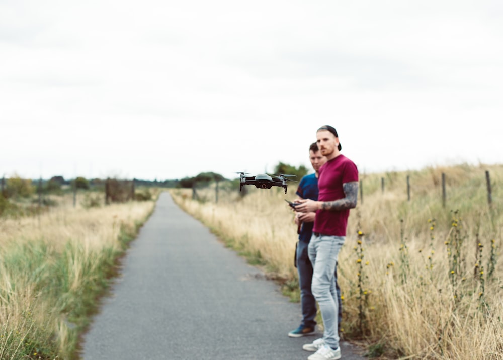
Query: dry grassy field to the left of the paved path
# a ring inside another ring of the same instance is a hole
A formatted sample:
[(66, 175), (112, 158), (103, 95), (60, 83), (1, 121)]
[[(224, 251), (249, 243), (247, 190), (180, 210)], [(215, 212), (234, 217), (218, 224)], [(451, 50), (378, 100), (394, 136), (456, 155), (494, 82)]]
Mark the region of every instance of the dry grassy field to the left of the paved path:
[[(118, 259), (154, 201), (53, 196), (35, 216), (0, 217), (0, 359), (75, 358)], [(90, 204), (92, 206), (90, 207)]]

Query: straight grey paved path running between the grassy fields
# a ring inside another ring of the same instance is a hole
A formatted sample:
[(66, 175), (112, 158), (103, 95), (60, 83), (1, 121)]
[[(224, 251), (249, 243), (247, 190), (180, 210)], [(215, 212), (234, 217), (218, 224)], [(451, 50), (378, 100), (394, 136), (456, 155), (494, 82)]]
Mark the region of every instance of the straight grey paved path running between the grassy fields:
[[(306, 359), (300, 305), (162, 193), (83, 338), (84, 360)], [(343, 359), (360, 360), (341, 344)]]

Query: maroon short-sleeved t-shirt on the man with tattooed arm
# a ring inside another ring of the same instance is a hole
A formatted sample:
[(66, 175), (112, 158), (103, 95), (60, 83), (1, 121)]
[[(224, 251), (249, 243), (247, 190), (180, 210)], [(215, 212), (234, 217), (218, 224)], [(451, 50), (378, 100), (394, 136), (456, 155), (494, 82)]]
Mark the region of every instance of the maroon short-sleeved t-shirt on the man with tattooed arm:
[[(358, 181), (358, 169), (353, 161), (339, 155), (319, 169), (318, 201), (344, 199), (343, 184)], [(346, 236), (349, 209), (340, 211), (317, 210), (314, 219), (314, 232), (325, 235)]]

